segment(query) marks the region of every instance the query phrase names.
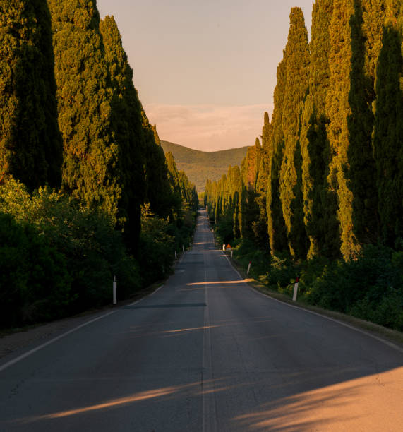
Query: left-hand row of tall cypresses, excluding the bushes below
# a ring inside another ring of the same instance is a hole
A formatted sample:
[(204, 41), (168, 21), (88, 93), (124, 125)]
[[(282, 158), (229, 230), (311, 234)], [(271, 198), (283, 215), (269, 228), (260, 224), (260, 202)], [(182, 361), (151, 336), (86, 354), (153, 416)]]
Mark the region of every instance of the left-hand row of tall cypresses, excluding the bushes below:
[(94, 0), (1, 1), (0, 185), (61, 188), (112, 217), (136, 252), (142, 203), (171, 220), (182, 200), (197, 209), (172, 169), (113, 16), (100, 20)]

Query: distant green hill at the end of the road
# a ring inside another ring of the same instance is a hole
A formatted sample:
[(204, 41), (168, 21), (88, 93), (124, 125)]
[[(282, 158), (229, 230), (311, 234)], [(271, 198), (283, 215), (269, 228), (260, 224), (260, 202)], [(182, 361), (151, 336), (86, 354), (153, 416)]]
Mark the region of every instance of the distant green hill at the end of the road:
[(219, 152), (201, 152), (169, 141), (161, 141), (161, 145), (164, 152), (172, 152), (176, 166), (186, 172), (198, 193), (204, 191), (207, 179), (219, 180), (222, 174), (227, 173), (229, 165), (241, 165), (248, 149), (246, 146)]

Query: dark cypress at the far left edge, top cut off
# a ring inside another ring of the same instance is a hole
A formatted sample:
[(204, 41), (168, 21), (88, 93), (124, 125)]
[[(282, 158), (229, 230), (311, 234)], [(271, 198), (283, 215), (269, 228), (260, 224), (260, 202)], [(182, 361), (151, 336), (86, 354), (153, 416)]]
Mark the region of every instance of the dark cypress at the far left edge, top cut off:
[(58, 187), (62, 144), (46, 1), (1, 1), (0, 28), (0, 182), (11, 175), (31, 190)]

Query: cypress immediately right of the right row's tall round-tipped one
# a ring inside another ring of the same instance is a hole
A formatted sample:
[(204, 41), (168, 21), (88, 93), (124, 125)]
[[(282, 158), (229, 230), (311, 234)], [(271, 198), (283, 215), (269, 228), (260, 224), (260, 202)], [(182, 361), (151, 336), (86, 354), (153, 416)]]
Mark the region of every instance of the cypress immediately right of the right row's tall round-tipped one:
[(330, 163), (325, 100), (329, 89), (329, 25), (333, 0), (317, 0), (312, 10), (309, 92), (301, 116), (303, 215), (309, 238), (308, 258), (339, 254), (337, 195), (327, 183)]

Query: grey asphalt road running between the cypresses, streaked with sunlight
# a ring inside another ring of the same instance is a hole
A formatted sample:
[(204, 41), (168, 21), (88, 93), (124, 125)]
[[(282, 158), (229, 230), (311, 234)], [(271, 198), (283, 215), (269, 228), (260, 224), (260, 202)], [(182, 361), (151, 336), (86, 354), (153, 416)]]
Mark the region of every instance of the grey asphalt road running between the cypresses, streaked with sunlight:
[(205, 212), (161, 289), (49, 342), (1, 359), (0, 431), (402, 430), (403, 352), (255, 292)]

